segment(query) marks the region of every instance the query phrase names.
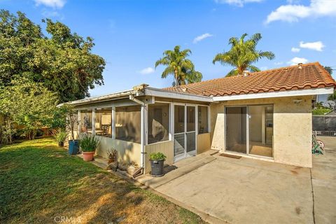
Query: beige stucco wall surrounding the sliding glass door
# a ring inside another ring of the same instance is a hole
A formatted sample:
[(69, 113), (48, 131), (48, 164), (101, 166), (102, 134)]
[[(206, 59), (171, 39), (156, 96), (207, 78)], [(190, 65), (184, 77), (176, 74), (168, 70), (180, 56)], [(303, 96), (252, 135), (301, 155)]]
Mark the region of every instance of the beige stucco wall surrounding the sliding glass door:
[[(302, 99), (295, 104), (293, 99)], [(225, 151), (225, 106), (274, 105), (274, 162), (311, 167), (311, 96), (244, 99), (211, 104), (211, 148)]]

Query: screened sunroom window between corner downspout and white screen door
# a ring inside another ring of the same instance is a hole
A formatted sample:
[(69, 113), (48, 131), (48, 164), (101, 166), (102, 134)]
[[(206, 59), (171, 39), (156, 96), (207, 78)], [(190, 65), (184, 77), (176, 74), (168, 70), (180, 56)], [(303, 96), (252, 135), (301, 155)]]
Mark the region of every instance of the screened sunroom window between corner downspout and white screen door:
[(148, 144), (169, 140), (169, 104), (148, 106)]

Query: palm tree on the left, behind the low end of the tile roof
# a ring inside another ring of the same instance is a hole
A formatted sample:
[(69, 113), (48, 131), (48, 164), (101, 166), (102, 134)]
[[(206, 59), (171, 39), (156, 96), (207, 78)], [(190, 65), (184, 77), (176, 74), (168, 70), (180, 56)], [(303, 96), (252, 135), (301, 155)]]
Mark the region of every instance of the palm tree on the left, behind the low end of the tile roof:
[(179, 45), (176, 45), (174, 50), (163, 52), (164, 57), (155, 62), (155, 69), (160, 64), (165, 65), (166, 68), (162, 72), (161, 78), (173, 75), (173, 86), (200, 82), (202, 80), (202, 73), (195, 71), (193, 62), (187, 59), (191, 54), (191, 50), (185, 49), (181, 51), (180, 48)]

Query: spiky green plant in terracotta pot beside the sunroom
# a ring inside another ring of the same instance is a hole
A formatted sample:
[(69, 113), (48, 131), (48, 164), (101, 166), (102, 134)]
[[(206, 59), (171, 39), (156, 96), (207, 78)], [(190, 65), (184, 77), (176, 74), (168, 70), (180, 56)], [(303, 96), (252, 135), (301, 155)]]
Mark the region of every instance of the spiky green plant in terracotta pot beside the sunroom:
[(79, 140), (79, 145), (83, 153), (84, 161), (92, 161), (93, 155), (100, 144), (100, 137), (93, 134), (83, 133)]

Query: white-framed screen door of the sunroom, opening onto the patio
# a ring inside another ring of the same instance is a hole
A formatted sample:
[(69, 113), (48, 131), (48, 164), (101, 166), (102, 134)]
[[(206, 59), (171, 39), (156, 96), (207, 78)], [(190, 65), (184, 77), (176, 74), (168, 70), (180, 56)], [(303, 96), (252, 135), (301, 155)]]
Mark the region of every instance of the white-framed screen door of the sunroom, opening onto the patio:
[(174, 160), (196, 153), (196, 106), (174, 105)]

